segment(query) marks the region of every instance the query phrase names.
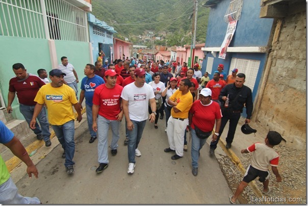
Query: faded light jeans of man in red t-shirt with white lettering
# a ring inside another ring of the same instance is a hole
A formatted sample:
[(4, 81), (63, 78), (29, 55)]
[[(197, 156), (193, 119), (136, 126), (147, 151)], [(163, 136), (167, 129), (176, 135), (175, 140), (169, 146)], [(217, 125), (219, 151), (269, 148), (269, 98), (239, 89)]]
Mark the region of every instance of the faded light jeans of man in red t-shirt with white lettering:
[(98, 115), (97, 118), (97, 153), (98, 153), (98, 163), (109, 163), (108, 160), (108, 129), (111, 126), (112, 140), (111, 149), (116, 149), (118, 147), (118, 140), (120, 139), (120, 122), (117, 120), (109, 120), (103, 116)]

